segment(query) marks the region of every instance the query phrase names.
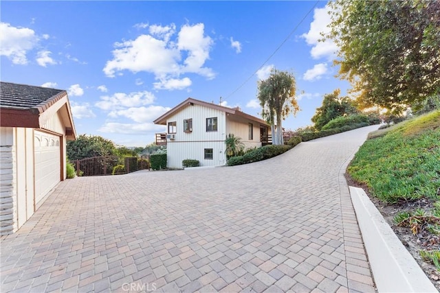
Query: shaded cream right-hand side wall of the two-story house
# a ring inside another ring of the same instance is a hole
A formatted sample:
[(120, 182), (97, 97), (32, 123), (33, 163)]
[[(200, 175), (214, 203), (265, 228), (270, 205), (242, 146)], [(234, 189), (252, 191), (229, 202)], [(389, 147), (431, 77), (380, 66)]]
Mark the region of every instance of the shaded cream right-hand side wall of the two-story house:
[[(249, 124), (252, 123), (252, 129), (254, 130), (253, 139), (249, 139)], [(234, 134), (236, 137), (241, 138), (241, 142), (245, 145), (245, 148), (259, 148), (260, 142), (260, 124), (256, 121), (241, 119), (240, 121), (232, 120), (227, 117), (226, 119), (226, 135)]]

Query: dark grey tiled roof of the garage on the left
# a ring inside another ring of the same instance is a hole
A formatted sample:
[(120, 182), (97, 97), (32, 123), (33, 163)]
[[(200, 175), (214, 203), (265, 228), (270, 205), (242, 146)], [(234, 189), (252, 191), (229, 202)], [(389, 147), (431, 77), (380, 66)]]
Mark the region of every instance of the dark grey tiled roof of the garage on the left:
[(0, 82), (0, 107), (1, 108), (47, 108), (65, 95), (61, 89), (49, 89), (42, 86), (29, 86), (25, 84), (12, 84)]

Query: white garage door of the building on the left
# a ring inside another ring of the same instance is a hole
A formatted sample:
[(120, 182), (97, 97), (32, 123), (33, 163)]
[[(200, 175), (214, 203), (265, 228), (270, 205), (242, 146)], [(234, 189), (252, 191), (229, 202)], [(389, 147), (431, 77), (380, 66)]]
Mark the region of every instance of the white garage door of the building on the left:
[(34, 132), (35, 202), (38, 204), (61, 180), (60, 137)]

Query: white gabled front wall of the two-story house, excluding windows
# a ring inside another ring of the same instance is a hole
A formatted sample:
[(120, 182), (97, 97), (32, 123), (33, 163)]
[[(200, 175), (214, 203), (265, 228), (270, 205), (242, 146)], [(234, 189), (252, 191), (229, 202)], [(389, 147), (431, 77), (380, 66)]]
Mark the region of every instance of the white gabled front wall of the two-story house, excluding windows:
[[(206, 118), (217, 117), (217, 131), (206, 132)], [(192, 132), (184, 132), (184, 119), (192, 119)], [(184, 159), (200, 161), (201, 166), (225, 165), (225, 113), (221, 110), (199, 105), (187, 106), (168, 118), (176, 121), (175, 140), (168, 139), (166, 145), (167, 167), (181, 168)], [(204, 159), (204, 149), (212, 148), (213, 159)]]

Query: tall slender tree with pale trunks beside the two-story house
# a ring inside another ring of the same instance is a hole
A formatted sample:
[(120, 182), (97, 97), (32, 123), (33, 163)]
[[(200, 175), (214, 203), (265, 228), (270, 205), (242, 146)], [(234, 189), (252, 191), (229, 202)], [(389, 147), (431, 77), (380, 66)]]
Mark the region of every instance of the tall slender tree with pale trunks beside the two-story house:
[[(269, 78), (259, 80), (258, 90), (257, 97), (263, 108), (261, 115), (272, 128), (272, 144), (282, 145), (284, 143), (283, 120), (290, 113), (296, 115), (300, 110), (295, 99), (295, 77), (287, 71), (272, 69)], [(276, 132), (274, 131), (275, 122)]]

